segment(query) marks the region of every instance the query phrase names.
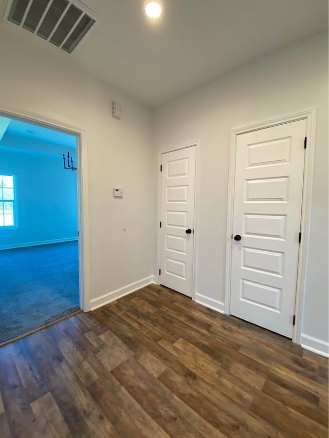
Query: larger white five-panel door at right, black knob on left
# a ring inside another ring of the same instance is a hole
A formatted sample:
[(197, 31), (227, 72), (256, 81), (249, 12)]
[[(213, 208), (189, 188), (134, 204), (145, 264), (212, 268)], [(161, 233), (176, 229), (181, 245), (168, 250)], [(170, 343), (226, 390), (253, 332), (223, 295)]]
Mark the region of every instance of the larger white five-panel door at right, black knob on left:
[(239, 135), (236, 143), (230, 313), (289, 338), (305, 133), (300, 120)]

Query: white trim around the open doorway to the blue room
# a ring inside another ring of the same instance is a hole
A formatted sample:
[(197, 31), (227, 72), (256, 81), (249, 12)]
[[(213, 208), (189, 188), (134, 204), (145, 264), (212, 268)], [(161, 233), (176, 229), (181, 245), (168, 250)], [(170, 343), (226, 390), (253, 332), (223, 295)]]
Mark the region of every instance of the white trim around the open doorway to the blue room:
[(78, 172), (78, 226), (79, 226), (79, 291), (80, 307), (84, 312), (90, 310), (89, 282), (89, 222), (88, 222), (88, 175), (87, 150), (84, 129), (71, 126), (59, 120), (48, 119), (20, 109), (0, 106), (0, 115), (34, 122), (49, 129), (57, 129), (77, 137), (77, 172)]

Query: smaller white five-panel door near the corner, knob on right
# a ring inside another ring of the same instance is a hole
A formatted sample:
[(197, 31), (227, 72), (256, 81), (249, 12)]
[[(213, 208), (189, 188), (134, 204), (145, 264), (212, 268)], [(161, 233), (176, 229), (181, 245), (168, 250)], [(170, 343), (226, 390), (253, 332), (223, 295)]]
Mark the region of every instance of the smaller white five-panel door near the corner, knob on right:
[(162, 154), (160, 283), (192, 296), (196, 146)]

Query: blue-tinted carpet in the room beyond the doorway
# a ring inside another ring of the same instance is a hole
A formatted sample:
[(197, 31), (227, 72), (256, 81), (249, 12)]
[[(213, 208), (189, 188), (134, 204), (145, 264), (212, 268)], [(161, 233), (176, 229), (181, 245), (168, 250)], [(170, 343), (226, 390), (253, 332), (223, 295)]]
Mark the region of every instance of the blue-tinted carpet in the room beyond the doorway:
[(0, 251), (0, 343), (78, 309), (77, 241)]

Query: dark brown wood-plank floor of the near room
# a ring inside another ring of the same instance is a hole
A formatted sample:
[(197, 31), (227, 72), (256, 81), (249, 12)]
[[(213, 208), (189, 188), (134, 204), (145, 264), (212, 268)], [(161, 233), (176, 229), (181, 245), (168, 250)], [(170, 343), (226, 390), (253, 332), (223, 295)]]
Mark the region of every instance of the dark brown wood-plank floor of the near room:
[(328, 363), (156, 285), (0, 348), (0, 436), (328, 436)]

